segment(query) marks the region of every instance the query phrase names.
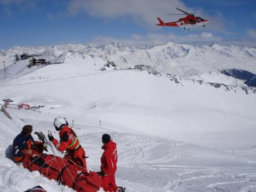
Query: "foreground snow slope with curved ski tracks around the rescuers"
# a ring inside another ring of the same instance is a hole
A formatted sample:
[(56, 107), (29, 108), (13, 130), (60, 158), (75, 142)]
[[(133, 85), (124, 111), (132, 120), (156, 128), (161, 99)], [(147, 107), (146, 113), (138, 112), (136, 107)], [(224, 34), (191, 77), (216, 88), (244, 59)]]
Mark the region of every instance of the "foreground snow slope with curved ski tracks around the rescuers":
[[(22, 125), (34, 125), (34, 130), (52, 128), (52, 118), (56, 114), (44, 114), (35, 118), (32, 112), (9, 110), (13, 120), (1, 114), (1, 128), (8, 139), (1, 138), (1, 191), (24, 191), (41, 185), (47, 191), (72, 191), (58, 186), (37, 172), (29, 172), (4, 157), (6, 146), (11, 143)], [(14, 115), (22, 115), (24, 122)], [(47, 128), (46, 128), (47, 127)], [(87, 166), (99, 170), (102, 151), (101, 135), (109, 133), (117, 142), (119, 163), (117, 183), (126, 186), (127, 191), (187, 191), (217, 189), (255, 189), (254, 168), (245, 158), (223, 151), (191, 145), (160, 137), (118, 132), (106, 127), (75, 123), (74, 130), (86, 149)], [(57, 138), (56, 133), (54, 137)], [(36, 138), (36, 137), (35, 137)], [(61, 155), (60, 153), (58, 153)], [(4, 173), (4, 174), (3, 174)]]

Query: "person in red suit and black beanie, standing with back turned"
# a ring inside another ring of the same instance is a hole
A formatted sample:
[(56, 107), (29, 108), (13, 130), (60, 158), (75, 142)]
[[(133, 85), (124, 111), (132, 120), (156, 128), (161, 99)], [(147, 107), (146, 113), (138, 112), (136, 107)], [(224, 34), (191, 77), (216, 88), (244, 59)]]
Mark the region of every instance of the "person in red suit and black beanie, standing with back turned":
[(116, 185), (115, 173), (117, 170), (117, 148), (116, 143), (111, 140), (108, 134), (102, 135), (102, 149), (104, 153), (101, 156), (101, 172), (102, 188), (104, 191), (117, 191), (119, 187)]

